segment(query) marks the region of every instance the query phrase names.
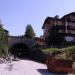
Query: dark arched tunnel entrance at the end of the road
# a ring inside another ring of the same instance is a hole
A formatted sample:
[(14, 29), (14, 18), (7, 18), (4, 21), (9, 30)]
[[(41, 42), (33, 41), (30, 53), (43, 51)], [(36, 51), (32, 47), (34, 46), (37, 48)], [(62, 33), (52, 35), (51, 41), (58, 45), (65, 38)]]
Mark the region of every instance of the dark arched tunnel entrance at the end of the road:
[(14, 44), (9, 50), (15, 57), (25, 58), (29, 56), (29, 47), (24, 43)]

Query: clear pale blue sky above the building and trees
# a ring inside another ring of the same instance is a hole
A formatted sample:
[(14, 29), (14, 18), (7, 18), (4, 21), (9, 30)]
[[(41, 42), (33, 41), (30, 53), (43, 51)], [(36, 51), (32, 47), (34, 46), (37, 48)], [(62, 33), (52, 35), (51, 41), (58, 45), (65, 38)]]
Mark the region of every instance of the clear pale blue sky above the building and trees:
[(70, 12), (75, 12), (75, 0), (0, 0), (1, 23), (12, 36), (23, 35), (31, 24), (39, 37), (48, 16), (61, 18)]

